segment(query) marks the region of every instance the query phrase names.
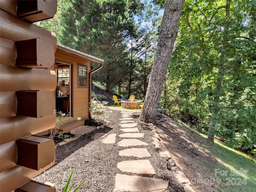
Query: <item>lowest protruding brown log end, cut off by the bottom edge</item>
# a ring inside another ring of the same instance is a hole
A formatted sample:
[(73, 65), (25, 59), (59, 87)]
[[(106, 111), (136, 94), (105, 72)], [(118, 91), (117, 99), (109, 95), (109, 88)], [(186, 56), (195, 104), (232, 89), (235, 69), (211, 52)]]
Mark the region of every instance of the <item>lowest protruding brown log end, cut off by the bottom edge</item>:
[(54, 192), (54, 188), (50, 185), (30, 180), (26, 184), (17, 188), (14, 192), (31, 192), (31, 191)]

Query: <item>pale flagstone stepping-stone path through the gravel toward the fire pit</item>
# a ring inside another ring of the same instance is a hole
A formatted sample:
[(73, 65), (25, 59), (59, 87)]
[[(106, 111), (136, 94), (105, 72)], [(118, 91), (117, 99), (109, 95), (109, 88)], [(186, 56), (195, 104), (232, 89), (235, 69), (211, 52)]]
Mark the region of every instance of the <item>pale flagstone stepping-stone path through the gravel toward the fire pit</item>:
[[(138, 123), (134, 123), (132, 118), (132, 112), (122, 111), (122, 118), (120, 119), (120, 130), (124, 134), (118, 135), (123, 138), (118, 142), (118, 146), (129, 147), (119, 151), (120, 156), (136, 156), (142, 158), (141, 160), (128, 160), (122, 161), (117, 164), (117, 168), (122, 170), (124, 174), (116, 174), (116, 182), (114, 192), (120, 191), (136, 191), (136, 192), (165, 192), (168, 189), (168, 181), (150, 178), (146, 176), (130, 176), (125, 172), (154, 175), (156, 174), (150, 161), (147, 157), (150, 157), (150, 153), (143, 146), (147, 146), (146, 142), (142, 142), (140, 138), (144, 137), (143, 133), (140, 133), (136, 128)], [(102, 142), (115, 143), (115, 134), (108, 135)], [(137, 148), (134, 148), (137, 146)], [(138, 148), (139, 147), (139, 148)]]

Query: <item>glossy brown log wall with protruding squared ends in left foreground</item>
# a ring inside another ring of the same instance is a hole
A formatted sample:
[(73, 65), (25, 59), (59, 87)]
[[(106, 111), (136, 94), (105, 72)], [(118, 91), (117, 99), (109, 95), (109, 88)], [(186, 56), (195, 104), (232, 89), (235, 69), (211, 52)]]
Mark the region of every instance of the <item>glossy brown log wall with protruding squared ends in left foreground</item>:
[(56, 73), (44, 68), (54, 65), (57, 40), (32, 22), (56, 10), (57, 0), (0, 0), (1, 192), (54, 191), (30, 179), (55, 162), (54, 141), (34, 134), (56, 124)]

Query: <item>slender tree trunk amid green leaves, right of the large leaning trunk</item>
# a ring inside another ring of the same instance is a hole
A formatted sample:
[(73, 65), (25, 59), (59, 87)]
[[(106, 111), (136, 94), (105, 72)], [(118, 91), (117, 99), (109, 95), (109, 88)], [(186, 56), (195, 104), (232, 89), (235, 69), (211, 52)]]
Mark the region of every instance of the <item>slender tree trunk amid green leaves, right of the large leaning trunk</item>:
[(222, 39), (222, 49), (220, 52), (220, 66), (218, 68), (218, 74), (217, 74), (217, 85), (216, 85), (216, 93), (214, 96), (214, 107), (211, 107), (210, 110), (212, 112), (212, 115), (210, 117), (210, 126), (208, 130), (208, 137), (207, 141), (210, 143), (214, 142), (214, 131), (216, 128), (216, 116), (218, 113), (217, 104), (220, 102), (220, 94), (222, 94), (222, 78), (224, 76), (224, 64), (226, 62), (226, 49), (228, 45), (228, 26), (229, 26), (229, 16), (230, 16), (230, 3), (231, 0), (226, 1), (226, 21), (224, 25), (224, 30), (223, 30), (223, 39)]

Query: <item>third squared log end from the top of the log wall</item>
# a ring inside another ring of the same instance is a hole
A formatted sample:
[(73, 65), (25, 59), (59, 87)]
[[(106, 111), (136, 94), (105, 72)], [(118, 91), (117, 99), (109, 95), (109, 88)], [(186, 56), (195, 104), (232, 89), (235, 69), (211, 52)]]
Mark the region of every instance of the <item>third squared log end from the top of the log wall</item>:
[(52, 91), (18, 90), (17, 115), (27, 117), (44, 117), (54, 113), (55, 97)]

